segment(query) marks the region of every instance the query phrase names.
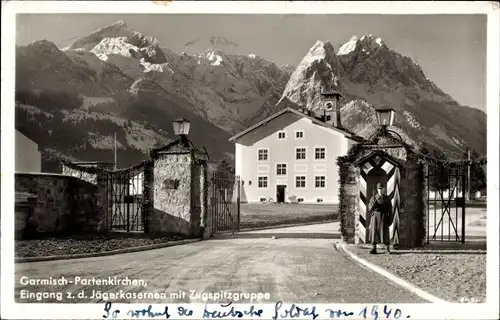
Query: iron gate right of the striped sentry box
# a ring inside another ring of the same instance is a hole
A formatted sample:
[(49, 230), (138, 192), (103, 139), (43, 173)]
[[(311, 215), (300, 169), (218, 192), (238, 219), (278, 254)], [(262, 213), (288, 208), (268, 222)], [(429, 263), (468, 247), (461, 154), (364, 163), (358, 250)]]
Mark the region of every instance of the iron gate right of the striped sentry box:
[(465, 162), (427, 166), (427, 243), (465, 242)]

